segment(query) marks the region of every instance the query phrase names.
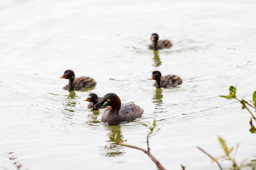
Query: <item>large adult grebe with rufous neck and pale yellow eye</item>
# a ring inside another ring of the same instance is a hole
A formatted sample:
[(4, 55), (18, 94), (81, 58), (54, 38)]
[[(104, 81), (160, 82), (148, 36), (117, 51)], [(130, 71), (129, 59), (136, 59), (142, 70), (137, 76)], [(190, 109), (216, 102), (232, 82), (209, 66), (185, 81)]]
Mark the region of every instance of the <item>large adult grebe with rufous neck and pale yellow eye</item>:
[(122, 104), (121, 100), (115, 93), (106, 94), (102, 100), (94, 106), (109, 106), (101, 117), (103, 123), (122, 123), (131, 122), (143, 113), (143, 109), (133, 103)]

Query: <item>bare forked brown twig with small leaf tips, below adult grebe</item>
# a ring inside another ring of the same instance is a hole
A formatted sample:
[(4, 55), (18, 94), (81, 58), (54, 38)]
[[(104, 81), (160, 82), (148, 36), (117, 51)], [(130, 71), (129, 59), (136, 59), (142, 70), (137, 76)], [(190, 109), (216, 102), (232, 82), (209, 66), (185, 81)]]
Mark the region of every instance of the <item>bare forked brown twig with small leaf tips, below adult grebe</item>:
[[(146, 124), (142, 124), (146, 127), (148, 127), (148, 125)], [(138, 149), (144, 153), (146, 153), (149, 158), (156, 164), (157, 168), (159, 168), (160, 170), (166, 170), (164, 168), (164, 166), (162, 164), (160, 164), (160, 162), (150, 153), (150, 148), (149, 148), (149, 144), (148, 144), (148, 137), (153, 133), (153, 130), (156, 128), (156, 120), (154, 119), (153, 125), (148, 127), (149, 132), (148, 132), (148, 136), (147, 136), (147, 146), (148, 146), (148, 150), (145, 150), (143, 148), (140, 148), (138, 146), (133, 146), (133, 145), (129, 145), (129, 144), (124, 144), (124, 142), (126, 142), (127, 140), (122, 140), (121, 138), (117, 138), (117, 134), (114, 134), (113, 137), (109, 137), (109, 139), (113, 142), (115, 142), (118, 145), (122, 145), (122, 146), (126, 146), (129, 148), (134, 148), (134, 149)], [(159, 130), (159, 129), (157, 129)], [(157, 131), (156, 130), (156, 131)]]

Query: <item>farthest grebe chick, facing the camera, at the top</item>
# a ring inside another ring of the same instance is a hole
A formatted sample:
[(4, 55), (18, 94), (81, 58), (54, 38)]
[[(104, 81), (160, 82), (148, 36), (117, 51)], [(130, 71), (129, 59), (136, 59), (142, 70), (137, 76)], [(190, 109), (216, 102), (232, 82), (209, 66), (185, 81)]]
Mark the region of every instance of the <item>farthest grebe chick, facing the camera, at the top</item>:
[(160, 40), (158, 41), (158, 34), (157, 33), (152, 33), (151, 35), (151, 41), (153, 43), (148, 46), (149, 49), (157, 50), (157, 49), (163, 49), (163, 48), (171, 48), (172, 43), (168, 40)]

